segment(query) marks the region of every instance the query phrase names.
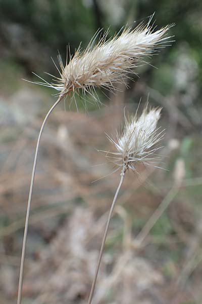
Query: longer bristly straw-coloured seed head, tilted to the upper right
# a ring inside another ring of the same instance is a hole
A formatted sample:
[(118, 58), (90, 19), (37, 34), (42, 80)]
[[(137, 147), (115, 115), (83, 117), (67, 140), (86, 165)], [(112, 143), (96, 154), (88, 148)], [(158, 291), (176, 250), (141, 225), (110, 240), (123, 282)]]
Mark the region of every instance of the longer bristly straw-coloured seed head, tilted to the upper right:
[(94, 45), (95, 35), (86, 50), (78, 48), (65, 66), (59, 55), (60, 77), (55, 77), (54, 83), (38, 84), (58, 90), (63, 97), (78, 94), (78, 90), (82, 90), (84, 96), (89, 93), (95, 97), (95, 87), (113, 89), (113, 83), (123, 82), (128, 72), (137, 73), (135, 68), (145, 62), (145, 56), (168, 43), (170, 37), (165, 34), (170, 26), (154, 31), (150, 23), (151, 19), (146, 26), (125, 28), (109, 40), (106, 33), (97, 45)]

